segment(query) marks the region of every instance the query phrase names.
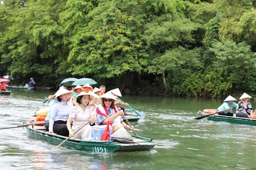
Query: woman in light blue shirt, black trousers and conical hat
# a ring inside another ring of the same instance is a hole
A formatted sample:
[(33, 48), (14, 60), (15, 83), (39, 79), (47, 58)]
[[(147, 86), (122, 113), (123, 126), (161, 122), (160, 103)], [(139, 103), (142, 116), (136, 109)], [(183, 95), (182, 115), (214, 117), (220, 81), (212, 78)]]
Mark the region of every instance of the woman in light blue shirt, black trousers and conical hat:
[(54, 104), (51, 117), (49, 121), (49, 133), (59, 133), (63, 136), (68, 136), (67, 121), (68, 116), (73, 104), (68, 101), (68, 98), (73, 96), (73, 92), (66, 89), (59, 89), (54, 100), (58, 100), (59, 103)]

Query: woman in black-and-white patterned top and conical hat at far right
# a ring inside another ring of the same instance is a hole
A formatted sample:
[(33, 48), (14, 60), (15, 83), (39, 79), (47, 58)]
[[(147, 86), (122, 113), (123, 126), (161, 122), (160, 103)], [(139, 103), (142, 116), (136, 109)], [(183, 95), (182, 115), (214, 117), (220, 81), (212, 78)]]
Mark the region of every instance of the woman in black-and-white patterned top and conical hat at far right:
[(245, 118), (251, 118), (252, 115), (252, 105), (248, 101), (249, 98), (252, 98), (251, 96), (244, 93), (240, 98), (236, 107), (236, 117), (245, 117)]

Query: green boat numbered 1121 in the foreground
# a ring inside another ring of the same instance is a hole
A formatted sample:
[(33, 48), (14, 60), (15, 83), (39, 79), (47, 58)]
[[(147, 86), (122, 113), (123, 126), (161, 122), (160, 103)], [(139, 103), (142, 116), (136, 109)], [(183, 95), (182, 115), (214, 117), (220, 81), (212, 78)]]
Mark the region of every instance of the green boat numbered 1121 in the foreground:
[[(59, 145), (67, 137), (58, 134), (48, 133), (44, 126), (30, 125), (25, 127), (27, 134), (30, 137), (37, 138)], [(95, 152), (95, 153), (109, 153), (109, 152), (132, 152), (132, 151), (148, 151), (154, 148), (155, 144), (151, 143), (152, 139), (143, 138), (132, 135), (135, 143), (120, 143), (113, 141), (93, 141), (81, 139), (68, 139), (61, 146), (74, 148), (80, 151)]]

